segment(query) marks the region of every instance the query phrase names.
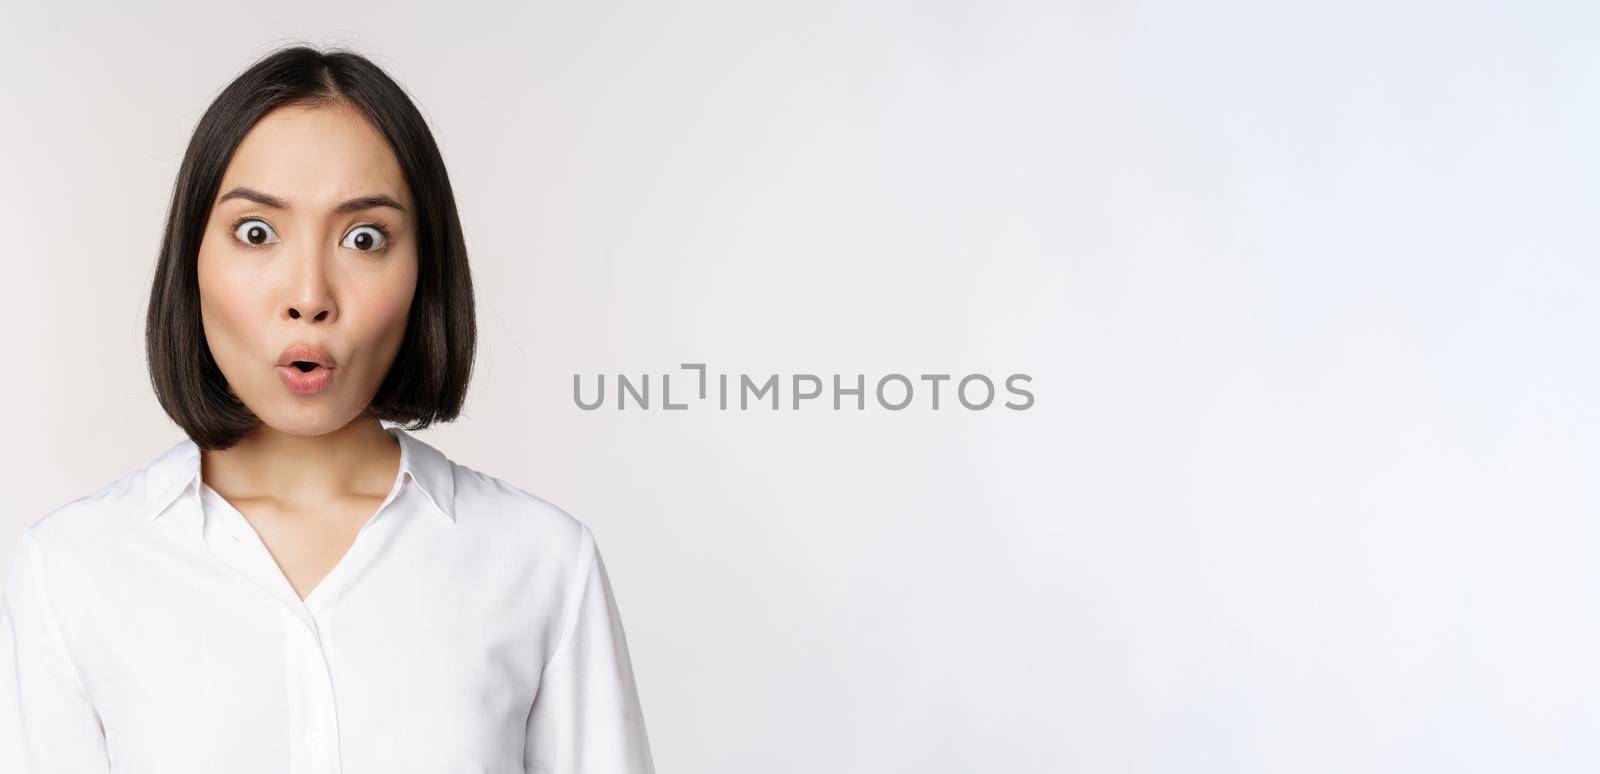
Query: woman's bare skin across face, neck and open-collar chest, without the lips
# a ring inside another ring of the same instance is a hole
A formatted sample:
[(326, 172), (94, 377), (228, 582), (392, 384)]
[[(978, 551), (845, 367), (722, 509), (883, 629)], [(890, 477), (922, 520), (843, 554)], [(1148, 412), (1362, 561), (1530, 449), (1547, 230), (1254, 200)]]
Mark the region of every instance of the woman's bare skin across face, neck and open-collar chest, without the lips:
[[(301, 598), (398, 473), (398, 443), (360, 414), (405, 336), (418, 275), (413, 213), (394, 150), (365, 117), (347, 106), (283, 106), (235, 150), (200, 243), (206, 342), (262, 421), (237, 446), (203, 451), (202, 481), (250, 521)], [(278, 373), (283, 349), (301, 342), (334, 361), (322, 392), (294, 392)]]

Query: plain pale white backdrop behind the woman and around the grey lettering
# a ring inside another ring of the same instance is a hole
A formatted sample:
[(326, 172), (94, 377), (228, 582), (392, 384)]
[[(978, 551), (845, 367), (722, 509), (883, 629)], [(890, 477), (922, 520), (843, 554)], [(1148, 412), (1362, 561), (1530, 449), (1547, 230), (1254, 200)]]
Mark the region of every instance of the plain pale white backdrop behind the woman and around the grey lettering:
[[(0, 550), (181, 438), (141, 329), (189, 133), (349, 45), (472, 256), (421, 437), (595, 529), (662, 772), (1594, 771), (1595, 22), (8, 0)], [(571, 400), (685, 361), (1037, 401)]]

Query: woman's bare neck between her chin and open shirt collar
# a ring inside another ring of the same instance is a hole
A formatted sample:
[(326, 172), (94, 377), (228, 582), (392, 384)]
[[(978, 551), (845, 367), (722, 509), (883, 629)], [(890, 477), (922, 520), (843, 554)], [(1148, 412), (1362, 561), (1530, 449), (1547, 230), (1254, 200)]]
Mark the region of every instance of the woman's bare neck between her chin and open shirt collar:
[(230, 501), (266, 499), (307, 510), (338, 497), (382, 497), (398, 470), (400, 443), (374, 417), (323, 435), (290, 435), (262, 424), (235, 446), (200, 457), (200, 480)]

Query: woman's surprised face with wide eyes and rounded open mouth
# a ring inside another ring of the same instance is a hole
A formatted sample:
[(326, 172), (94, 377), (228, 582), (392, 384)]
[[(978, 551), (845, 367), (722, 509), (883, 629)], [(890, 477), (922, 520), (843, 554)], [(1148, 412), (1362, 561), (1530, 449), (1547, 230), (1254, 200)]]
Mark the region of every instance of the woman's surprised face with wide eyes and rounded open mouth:
[(413, 211), (389, 142), (352, 107), (283, 106), (240, 142), (200, 240), (200, 317), (262, 422), (322, 435), (371, 403), (416, 291)]

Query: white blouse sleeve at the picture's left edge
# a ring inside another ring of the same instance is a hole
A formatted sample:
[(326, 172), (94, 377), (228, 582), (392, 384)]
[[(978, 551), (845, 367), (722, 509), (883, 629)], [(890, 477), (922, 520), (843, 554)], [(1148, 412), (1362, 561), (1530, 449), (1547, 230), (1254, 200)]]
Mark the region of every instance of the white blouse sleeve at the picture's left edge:
[(0, 771), (104, 774), (106, 734), (45, 598), (43, 561), (22, 533), (0, 601)]

